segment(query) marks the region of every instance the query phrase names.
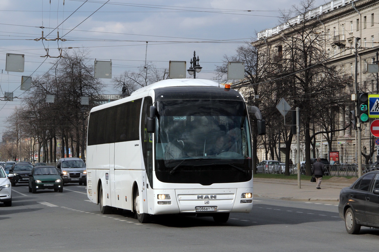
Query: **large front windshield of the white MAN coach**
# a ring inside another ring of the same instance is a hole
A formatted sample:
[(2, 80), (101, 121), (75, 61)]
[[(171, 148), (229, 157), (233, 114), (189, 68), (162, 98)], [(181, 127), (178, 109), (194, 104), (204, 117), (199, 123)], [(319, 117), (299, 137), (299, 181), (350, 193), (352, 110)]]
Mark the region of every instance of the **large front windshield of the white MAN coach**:
[(251, 170), (251, 137), (243, 101), (162, 100), (157, 109), (155, 170), (172, 171), (184, 159), (175, 170)]

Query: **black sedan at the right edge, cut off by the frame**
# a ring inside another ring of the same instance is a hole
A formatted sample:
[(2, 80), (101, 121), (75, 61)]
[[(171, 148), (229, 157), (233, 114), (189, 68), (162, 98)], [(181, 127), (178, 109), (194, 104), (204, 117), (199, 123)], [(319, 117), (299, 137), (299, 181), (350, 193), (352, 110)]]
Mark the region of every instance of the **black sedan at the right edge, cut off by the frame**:
[(366, 173), (342, 189), (338, 212), (350, 234), (359, 233), (361, 226), (379, 228), (379, 171)]

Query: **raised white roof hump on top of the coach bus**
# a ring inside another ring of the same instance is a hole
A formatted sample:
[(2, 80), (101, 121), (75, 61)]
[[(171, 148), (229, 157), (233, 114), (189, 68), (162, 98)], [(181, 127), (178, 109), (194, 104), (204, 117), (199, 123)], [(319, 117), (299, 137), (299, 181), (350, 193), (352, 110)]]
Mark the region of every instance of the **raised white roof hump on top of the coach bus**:
[(166, 79), (166, 80), (160, 80), (158, 82), (155, 82), (154, 84), (151, 84), (149, 86), (140, 88), (136, 91), (134, 91), (133, 94), (142, 93), (147, 90), (152, 90), (156, 88), (166, 88), (166, 87), (218, 87), (219, 84), (217, 82), (214, 82), (212, 80), (205, 80), (205, 79)]

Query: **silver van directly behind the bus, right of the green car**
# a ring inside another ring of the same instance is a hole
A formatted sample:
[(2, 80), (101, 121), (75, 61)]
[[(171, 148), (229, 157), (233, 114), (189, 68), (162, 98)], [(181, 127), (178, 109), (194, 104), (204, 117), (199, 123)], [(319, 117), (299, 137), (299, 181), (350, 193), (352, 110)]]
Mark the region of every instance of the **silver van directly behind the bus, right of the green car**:
[(61, 158), (56, 164), (58, 172), (63, 173), (63, 184), (79, 183), (87, 185), (86, 164), (81, 158)]

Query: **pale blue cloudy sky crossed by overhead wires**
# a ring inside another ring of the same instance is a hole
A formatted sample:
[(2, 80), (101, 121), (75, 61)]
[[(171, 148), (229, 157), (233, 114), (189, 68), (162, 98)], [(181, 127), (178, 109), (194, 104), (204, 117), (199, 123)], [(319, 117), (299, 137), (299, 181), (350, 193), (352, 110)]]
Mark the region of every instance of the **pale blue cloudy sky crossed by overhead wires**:
[[(26, 93), (21, 76), (44, 74), (59, 56), (57, 48), (84, 48), (89, 57), (112, 60), (112, 76), (144, 65), (168, 68), (169, 60), (199, 56), (197, 78), (216, 78), (216, 65), (237, 46), (255, 39), (255, 31), (279, 23), (280, 10), (298, 5), (294, 0), (0, 0), (0, 97), (14, 92), (13, 102), (0, 100), (0, 137), (6, 119)], [(315, 0), (315, 7), (329, 1)], [(106, 3), (106, 4), (105, 4)], [(99, 9), (100, 8), (100, 9)], [(95, 12), (95, 13), (94, 13)], [(40, 27), (44, 27), (43, 29)], [(58, 29), (55, 29), (57, 28)], [(65, 42), (55, 39), (57, 31)], [(49, 34), (49, 35), (48, 35)], [(74, 49), (66, 49), (68, 52)], [(6, 53), (25, 54), (25, 71), (6, 72)], [(189, 67), (189, 63), (188, 67)], [(217, 80), (215, 80), (217, 81)], [(104, 79), (104, 93), (116, 94)], [(32, 89), (33, 91), (33, 89)]]

